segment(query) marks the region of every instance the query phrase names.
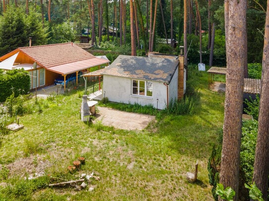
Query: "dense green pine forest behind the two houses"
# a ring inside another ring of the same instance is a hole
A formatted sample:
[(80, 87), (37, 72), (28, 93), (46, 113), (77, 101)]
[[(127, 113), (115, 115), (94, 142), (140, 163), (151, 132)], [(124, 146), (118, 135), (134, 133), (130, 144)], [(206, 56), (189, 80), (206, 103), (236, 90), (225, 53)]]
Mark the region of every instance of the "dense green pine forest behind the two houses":
[[(213, 49), (213, 65), (225, 66), (223, 1), (185, 1), (189, 61), (199, 63), (201, 32), (203, 63), (209, 63)], [(248, 1), (248, 63), (262, 62), (265, 14), (265, 1)], [(0, 55), (28, 46), (29, 37), (32, 45), (43, 45), (78, 41), (80, 35), (90, 37), (95, 48), (130, 53), (135, 46), (137, 55), (179, 53), (183, 20), (184, 0), (0, 0)], [(116, 33), (109, 33), (109, 27)], [(168, 39), (177, 41), (177, 47)]]

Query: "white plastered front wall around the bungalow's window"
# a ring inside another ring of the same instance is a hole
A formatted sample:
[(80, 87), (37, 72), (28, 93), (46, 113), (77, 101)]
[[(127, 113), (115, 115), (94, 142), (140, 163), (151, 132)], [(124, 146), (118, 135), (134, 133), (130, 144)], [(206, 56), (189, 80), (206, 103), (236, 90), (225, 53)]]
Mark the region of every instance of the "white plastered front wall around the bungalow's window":
[[(106, 94), (109, 101), (118, 102), (118, 103), (138, 103), (142, 106), (152, 104), (153, 107), (157, 108), (157, 99), (158, 109), (163, 109), (166, 107), (166, 94), (167, 87), (163, 82), (152, 81), (153, 82), (153, 95), (152, 97), (143, 97), (131, 95), (132, 90), (132, 79), (123, 78), (116, 76), (104, 75), (103, 81), (103, 97)], [(177, 88), (177, 87), (176, 87)]]

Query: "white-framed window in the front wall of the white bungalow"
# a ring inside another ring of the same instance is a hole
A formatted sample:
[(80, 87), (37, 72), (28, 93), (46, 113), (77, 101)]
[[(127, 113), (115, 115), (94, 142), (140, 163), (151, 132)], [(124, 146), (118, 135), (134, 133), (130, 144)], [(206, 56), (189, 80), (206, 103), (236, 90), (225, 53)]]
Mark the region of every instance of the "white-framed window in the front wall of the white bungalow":
[(152, 81), (132, 80), (132, 94), (141, 96), (152, 96)]

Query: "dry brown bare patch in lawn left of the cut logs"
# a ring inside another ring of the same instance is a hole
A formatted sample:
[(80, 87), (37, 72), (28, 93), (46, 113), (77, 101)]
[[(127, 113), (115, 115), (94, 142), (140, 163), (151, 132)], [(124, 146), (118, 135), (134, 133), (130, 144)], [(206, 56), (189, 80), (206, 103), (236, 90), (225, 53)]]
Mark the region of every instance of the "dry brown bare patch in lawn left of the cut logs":
[(52, 163), (49, 160), (43, 160), (43, 157), (39, 155), (31, 155), (7, 164), (6, 168), (9, 170), (9, 176), (35, 177), (44, 174), (44, 170), (50, 166), (52, 166)]

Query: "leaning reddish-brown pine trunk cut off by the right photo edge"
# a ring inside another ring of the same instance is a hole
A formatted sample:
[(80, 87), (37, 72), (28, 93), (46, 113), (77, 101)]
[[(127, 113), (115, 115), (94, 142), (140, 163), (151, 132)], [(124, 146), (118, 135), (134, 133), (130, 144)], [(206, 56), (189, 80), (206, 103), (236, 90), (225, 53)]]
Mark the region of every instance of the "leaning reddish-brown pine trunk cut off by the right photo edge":
[(260, 98), (259, 126), (254, 161), (253, 181), (262, 191), (263, 199), (268, 200), (269, 176), (269, 0), (265, 24), (262, 88)]

